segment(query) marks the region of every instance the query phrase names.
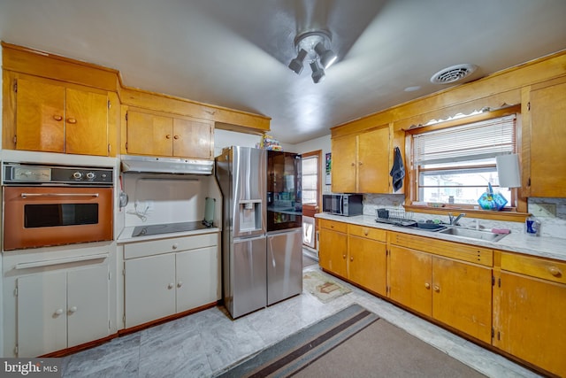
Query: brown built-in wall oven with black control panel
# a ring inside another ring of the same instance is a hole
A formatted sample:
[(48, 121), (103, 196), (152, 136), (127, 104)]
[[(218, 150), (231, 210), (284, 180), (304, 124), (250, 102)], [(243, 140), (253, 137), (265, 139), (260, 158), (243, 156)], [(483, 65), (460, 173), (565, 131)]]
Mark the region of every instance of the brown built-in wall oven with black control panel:
[(4, 251), (112, 240), (111, 168), (3, 164)]

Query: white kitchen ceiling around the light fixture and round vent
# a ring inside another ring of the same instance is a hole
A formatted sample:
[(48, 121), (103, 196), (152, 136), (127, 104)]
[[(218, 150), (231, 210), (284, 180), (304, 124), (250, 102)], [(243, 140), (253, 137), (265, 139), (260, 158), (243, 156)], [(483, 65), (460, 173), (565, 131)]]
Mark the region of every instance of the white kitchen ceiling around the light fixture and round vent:
[[(264, 114), (274, 137), (300, 143), (446, 89), (429, 79), (447, 66), (475, 64), (475, 80), (564, 50), (565, 19), (564, 0), (0, 0), (0, 39)], [(287, 68), (312, 28), (339, 55), (318, 84), (308, 65)]]

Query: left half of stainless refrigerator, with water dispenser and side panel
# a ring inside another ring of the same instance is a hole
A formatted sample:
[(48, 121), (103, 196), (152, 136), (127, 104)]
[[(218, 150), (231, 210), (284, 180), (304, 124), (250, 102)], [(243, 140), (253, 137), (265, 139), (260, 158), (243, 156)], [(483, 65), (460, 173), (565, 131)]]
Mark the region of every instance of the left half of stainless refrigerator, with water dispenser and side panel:
[(229, 147), (216, 158), (223, 196), (222, 274), (233, 318), (266, 305), (266, 151)]

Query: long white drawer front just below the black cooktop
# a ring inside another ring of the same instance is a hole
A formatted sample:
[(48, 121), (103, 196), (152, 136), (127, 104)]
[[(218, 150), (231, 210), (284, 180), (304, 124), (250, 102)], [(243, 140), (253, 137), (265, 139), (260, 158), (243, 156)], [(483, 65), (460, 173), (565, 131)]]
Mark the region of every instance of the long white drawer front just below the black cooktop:
[(172, 237), (149, 242), (127, 243), (124, 245), (124, 258), (142, 258), (162, 253), (196, 250), (218, 244), (218, 234)]

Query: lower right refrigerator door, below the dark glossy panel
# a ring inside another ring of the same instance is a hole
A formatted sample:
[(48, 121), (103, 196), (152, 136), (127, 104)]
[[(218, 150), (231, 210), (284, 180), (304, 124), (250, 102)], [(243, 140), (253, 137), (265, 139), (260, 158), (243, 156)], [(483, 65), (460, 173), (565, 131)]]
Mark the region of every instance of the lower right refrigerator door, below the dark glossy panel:
[(302, 228), (267, 235), (267, 305), (302, 292)]

